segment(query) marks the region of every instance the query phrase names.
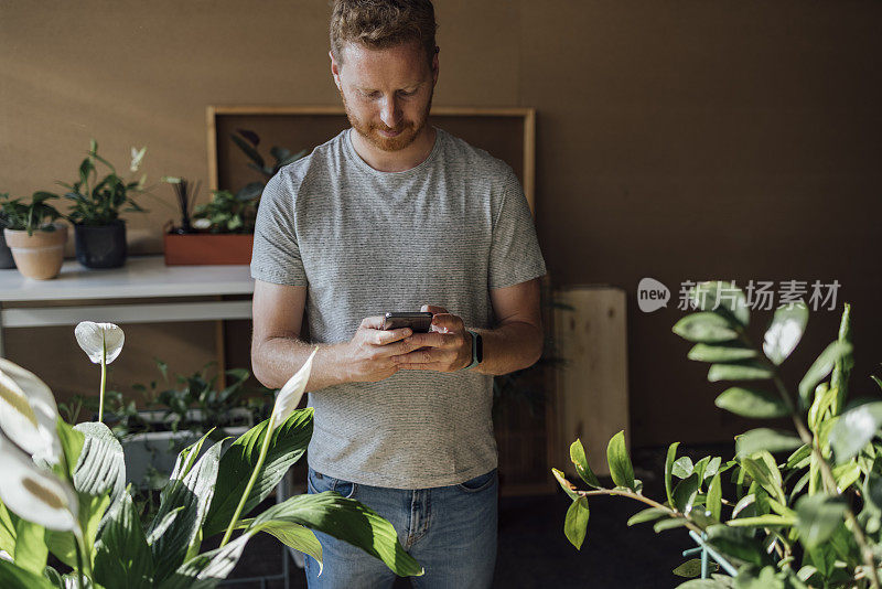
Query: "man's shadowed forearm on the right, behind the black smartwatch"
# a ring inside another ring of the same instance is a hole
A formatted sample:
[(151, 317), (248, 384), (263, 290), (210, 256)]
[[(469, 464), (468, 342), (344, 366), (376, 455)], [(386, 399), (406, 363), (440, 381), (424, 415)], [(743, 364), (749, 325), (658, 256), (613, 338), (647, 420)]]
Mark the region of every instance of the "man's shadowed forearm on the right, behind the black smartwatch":
[(542, 355), (542, 331), (523, 321), (512, 321), (492, 330), (473, 330), (484, 341), (483, 362), (473, 370), (501, 375), (534, 365)]

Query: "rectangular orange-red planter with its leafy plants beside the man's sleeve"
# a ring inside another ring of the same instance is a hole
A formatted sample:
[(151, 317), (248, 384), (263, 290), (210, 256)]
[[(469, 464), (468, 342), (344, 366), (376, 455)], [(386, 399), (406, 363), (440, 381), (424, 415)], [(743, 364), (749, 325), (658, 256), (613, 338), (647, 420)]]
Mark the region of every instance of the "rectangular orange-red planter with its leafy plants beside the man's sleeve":
[(186, 180), (163, 178), (174, 186), (181, 210), (181, 224), (172, 226), (164, 236), (165, 264), (169, 266), (249, 264), (255, 218), (267, 181), (283, 165), (306, 154), (306, 150), (292, 153), (287, 148), (273, 146), (270, 156), (275, 161), (269, 164), (257, 149), (260, 138), (256, 132), (238, 129), (230, 138), (250, 160), (248, 167), (258, 171), (263, 181), (249, 182), (235, 194), (228, 190), (212, 191), (211, 201), (195, 207), (191, 223), (191, 207), (198, 184), (190, 192)]

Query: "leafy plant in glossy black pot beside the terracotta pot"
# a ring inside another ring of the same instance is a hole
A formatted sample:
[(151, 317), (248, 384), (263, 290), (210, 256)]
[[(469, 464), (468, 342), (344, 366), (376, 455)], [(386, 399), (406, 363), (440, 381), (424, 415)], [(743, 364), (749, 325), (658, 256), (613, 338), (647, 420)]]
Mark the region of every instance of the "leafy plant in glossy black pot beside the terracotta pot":
[[(147, 148), (131, 148), (129, 171), (141, 165)], [(98, 180), (96, 162), (106, 165), (110, 173)], [(86, 268), (118, 268), (126, 263), (126, 222), (120, 212), (143, 213), (132, 200), (132, 194), (144, 192), (147, 174), (139, 180), (125, 180), (114, 165), (98, 156), (98, 143), (93, 139), (86, 159), (79, 164), (79, 179), (73, 184), (58, 182), (72, 201), (67, 218), (74, 224), (76, 258)], [(125, 208), (123, 208), (125, 206)]]

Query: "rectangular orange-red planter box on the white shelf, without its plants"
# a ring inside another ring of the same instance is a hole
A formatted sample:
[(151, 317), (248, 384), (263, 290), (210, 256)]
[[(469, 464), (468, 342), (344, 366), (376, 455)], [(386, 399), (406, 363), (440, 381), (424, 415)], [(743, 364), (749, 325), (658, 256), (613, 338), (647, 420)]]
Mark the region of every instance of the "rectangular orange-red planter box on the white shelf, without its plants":
[(165, 266), (251, 264), (251, 234), (165, 234)]

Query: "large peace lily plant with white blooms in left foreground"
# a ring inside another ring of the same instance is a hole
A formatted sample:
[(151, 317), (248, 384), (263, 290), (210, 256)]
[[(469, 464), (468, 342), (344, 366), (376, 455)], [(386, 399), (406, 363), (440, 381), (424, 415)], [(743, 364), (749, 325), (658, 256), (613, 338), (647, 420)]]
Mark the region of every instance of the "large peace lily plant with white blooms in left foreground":
[[(101, 323), (77, 330), (104, 372), (119, 355), (122, 331)], [(282, 387), (270, 418), (226, 451), (223, 441), (203, 451), (207, 435), (182, 450), (144, 528), (110, 429), (100, 418), (66, 424), (45, 383), (0, 358), (0, 587), (212, 588), (261, 532), (321, 565), (313, 529), (358, 546), (398, 575), (422, 575), (389, 522), (338, 493), (298, 495), (256, 513), (312, 435), (312, 409), (295, 409), (311, 365), (312, 356)], [(222, 533), (218, 548), (202, 550), (205, 538)], [(50, 554), (61, 570), (47, 565)]]

